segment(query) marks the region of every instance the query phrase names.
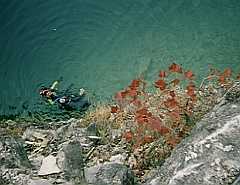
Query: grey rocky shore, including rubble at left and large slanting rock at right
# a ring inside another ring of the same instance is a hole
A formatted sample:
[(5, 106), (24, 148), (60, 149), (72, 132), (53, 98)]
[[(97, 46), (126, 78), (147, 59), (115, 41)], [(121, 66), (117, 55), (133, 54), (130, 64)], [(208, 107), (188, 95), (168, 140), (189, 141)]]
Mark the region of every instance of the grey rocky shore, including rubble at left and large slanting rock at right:
[(9, 120), (0, 132), (1, 185), (240, 184), (239, 89), (141, 180), (131, 169), (144, 162), (143, 151), (129, 153), (119, 129), (111, 130), (107, 142), (97, 124), (83, 126), (82, 119), (44, 125)]

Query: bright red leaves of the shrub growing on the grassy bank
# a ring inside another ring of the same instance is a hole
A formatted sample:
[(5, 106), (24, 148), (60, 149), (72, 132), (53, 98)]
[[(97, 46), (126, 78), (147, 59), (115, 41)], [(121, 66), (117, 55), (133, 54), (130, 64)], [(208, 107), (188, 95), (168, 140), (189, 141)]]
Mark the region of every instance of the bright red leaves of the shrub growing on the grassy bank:
[[(174, 75), (174, 78), (171, 78), (171, 75)], [(222, 73), (218, 70), (212, 70), (210, 77), (215, 76), (220, 84), (225, 84), (231, 75), (231, 69), (227, 68)], [(152, 142), (154, 139), (149, 133), (145, 134), (146, 129), (159, 133), (166, 143), (173, 147), (180, 142), (189, 129), (187, 125), (184, 125), (186, 115), (190, 116), (193, 113), (198, 101), (197, 92), (199, 89), (196, 88), (193, 81), (195, 75), (191, 70), (184, 70), (180, 65), (173, 63), (167, 71), (159, 71), (158, 77), (154, 83), (154, 86), (161, 91), (160, 102), (156, 106), (160, 112), (157, 114), (153, 114), (148, 109), (149, 105), (146, 100), (149, 97), (145, 93), (146, 84), (141, 79), (132, 80), (125, 90), (118, 92), (115, 96), (118, 106), (111, 107), (111, 113), (118, 113), (122, 110), (123, 102), (125, 106), (133, 105), (131, 106), (131, 114), (135, 116), (136, 130), (126, 131), (123, 137), (128, 142), (134, 140), (135, 146)], [(237, 75), (237, 79), (240, 80), (240, 74)], [(186, 89), (183, 89), (185, 94), (183, 91), (179, 94), (178, 88), (176, 88), (182, 80), (187, 82), (183, 83), (187, 84)], [(169, 122), (165, 123), (166, 120), (171, 121), (170, 125)]]

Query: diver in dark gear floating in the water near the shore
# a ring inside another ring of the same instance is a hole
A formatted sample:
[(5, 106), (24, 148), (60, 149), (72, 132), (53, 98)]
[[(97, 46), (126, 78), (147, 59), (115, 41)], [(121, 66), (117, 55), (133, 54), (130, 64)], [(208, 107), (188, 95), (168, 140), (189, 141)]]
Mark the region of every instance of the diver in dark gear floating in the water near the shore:
[(86, 97), (86, 92), (83, 88), (79, 90), (78, 94), (68, 94), (69, 88), (64, 93), (57, 93), (57, 84), (55, 81), (50, 88), (43, 87), (39, 94), (51, 105), (57, 103), (60, 109), (64, 110), (86, 110), (90, 106), (90, 102)]

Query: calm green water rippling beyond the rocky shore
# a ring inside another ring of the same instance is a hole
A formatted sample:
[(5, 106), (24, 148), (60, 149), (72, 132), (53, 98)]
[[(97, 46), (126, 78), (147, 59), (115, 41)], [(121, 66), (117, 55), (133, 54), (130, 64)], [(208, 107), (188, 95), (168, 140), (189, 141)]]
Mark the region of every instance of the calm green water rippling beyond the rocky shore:
[(239, 0), (1, 0), (0, 114), (63, 78), (107, 99), (172, 62), (240, 71)]

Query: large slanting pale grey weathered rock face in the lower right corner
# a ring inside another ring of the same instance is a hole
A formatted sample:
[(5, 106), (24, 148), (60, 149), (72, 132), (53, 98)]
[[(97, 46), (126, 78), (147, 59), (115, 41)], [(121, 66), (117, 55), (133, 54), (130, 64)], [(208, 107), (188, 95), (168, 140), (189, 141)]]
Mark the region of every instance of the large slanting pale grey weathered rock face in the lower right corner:
[(155, 172), (147, 185), (239, 184), (240, 103), (207, 114)]

